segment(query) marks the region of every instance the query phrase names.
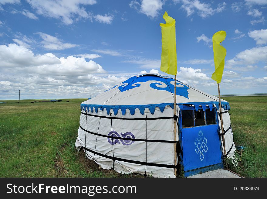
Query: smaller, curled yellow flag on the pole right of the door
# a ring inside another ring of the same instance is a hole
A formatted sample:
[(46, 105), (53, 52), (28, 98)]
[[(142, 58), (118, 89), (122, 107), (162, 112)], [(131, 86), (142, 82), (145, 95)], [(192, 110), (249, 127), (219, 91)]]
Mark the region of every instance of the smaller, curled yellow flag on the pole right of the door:
[(215, 72), (211, 75), (211, 79), (217, 81), (217, 84), (221, 83), (221, 77), (224, 69), (226, 49), (220, 44), (223, 40), (225, 40), (225, 37), (226, 32), (223, 30), (215, 33), (212, 36)]

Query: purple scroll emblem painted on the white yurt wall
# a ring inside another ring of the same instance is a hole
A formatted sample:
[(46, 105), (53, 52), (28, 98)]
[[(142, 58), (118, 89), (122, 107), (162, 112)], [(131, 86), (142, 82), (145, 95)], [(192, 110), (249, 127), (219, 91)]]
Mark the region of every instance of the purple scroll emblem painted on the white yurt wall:
[(131, 139), (135, 139), (134, 134), (132, 134), (131, 132), (126, 132), (126, 133), (120, 133), (119, 134), (116, 131), (110, 131), (109, 134), (108, 134), (108, 136), (117, 137), (117, 138), (107, 138), (107, 141), (111, 145), (114, 145), (114, 144), (117, 144), (117, 143), (120, 144), (120, 142), (123, 145), (131, 145), (132, 143), (134, 143), (134, 140), (125, 140), (125, 139), (120, 139), (120, 138), (131, 138)]

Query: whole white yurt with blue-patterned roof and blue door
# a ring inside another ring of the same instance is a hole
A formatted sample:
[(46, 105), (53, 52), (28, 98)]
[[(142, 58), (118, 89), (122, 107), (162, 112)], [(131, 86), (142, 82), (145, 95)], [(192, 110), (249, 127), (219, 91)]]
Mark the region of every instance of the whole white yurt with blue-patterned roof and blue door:
[(130, 77), (84, 101), (76, 149), (122, 174), (176, 177), (183, 171), (188, 177), (223, 168), (224, 157), (235, 157), (229, 103), (222, 100), (219, 113), (217, 97), (178, 80), (176, 85), (176, 107), (174, 78), (159, 74)]

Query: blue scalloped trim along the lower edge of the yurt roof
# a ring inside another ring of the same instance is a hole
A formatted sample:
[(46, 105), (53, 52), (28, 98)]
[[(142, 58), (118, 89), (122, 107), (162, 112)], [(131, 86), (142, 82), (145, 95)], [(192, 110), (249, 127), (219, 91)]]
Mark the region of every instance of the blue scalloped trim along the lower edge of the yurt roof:
[[(181, 110), (183, 110), (184, 105), (194, 105), (195, 110), (198, 111), (199, 106), (202, 106), (202, 109), (205, 111), (206, 110), (206, 105), (212, 110), (213, 105), (215, 104), (216, 109), (219, 109), (219, 102), (218, 101), (208, 101), (208, 102), (191, 102), (191, 103), (181, 103), (177, 104)], [(130, 110), (131, 115), (134, 115), (135, 109), (138, 108), (140, 113), (144, 115), (145, 108), (148, 108), (151, 114), (154, 114), (155, 108), (158, 107), (160, 108), (161, 112), (164, 111), (166, 106), (170, 106), (172, 109), (174, 109), (174, 103), (162, 103), (162, 104), (147, 104), (147, 105), (96, 105), (96, 104), (81, 104), (81, 110), (87, 112), (92, 112), (93, 113), (93, 108), (95, 109), (95, 112), (97, 113), (99, 110), (106, 109), (107, 114), (110, 114), (110, 109), (114, 111), (114, 115), (118, 114), (119, 109), (122, 112), (122, 115), (125, 115), (126, 109)], [(221, 107), (224, 110), (230, 110), (230, 105), (228, 102), (221, 102)]]

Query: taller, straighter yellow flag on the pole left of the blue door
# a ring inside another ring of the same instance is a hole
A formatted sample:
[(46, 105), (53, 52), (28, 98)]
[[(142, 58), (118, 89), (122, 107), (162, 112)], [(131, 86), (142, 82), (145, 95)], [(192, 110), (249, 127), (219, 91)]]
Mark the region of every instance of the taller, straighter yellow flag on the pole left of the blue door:
[(176, 57), (176, 37), (175, 37), (175, 19), (164, 13), (165, 23), (160, 23), (162, 34), (162, 52), (161, 52), (161, 71), (176, 75), (177, 57)]

